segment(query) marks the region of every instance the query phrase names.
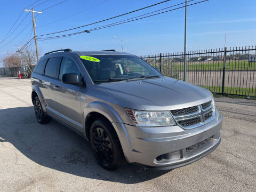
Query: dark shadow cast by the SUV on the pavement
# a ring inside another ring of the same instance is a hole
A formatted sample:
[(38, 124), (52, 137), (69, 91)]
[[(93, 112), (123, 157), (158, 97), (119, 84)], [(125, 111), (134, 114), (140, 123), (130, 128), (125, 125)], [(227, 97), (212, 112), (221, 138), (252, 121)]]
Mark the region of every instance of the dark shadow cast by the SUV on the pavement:
[(84, 138), (54, 119), (45, 125), (37, 123), (34, 107), (1, 109), (0, 138), (0, 143), (10, 142), (39, 165), (79, 177), (130, 184), (148, 181), (169, 172), (145, 169), (134, 164), (107, 171), (97, 163), (90, 143)]

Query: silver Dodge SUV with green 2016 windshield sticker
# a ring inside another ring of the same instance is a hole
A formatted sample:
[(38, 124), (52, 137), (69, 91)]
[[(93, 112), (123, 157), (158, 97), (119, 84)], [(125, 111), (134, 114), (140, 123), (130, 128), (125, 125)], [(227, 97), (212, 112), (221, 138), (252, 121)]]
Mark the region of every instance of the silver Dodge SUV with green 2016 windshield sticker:
[(57, 50), (38, 61), (32, 102), (90, 141), (99, 164), (171, 170), (218, 147), (222, 116), (210, 91), (163, 76), (135, 55)]

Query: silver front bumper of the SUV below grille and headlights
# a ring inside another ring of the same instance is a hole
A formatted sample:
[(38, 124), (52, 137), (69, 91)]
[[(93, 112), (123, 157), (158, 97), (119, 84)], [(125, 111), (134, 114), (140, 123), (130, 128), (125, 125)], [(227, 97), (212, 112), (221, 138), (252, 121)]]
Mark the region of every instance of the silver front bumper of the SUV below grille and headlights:
[[(113, 123), (128, 162), (158, 170), (175, 169), (197, 161), (217, 148), (221, 141), (222, 116), (195, 129), (181, 127), (137, 127)], [(207, 141), (207, 142), (206, 142)], [(203, 145), (201, 145), (203, 143)]]

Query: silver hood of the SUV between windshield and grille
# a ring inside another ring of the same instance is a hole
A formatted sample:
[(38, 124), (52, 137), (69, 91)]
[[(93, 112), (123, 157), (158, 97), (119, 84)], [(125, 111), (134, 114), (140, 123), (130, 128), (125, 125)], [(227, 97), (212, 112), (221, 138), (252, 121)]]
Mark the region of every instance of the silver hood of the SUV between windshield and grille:
[(98, 89), (141, 105), (145, 110), (192, 107), (212, 99), (212, 93), (169, 77), (96, 85)]

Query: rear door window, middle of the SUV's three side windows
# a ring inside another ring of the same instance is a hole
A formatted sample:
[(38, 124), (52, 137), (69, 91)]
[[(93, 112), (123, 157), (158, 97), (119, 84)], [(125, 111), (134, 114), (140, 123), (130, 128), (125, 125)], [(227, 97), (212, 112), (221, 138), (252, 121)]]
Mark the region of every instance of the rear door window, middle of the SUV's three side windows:
[(44, 75), (59, 78), (60, 60), (61, 57), (50, 58), (45, 67)]

